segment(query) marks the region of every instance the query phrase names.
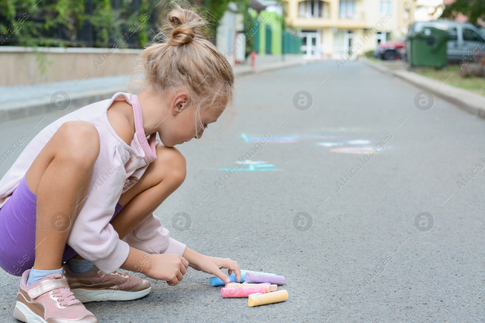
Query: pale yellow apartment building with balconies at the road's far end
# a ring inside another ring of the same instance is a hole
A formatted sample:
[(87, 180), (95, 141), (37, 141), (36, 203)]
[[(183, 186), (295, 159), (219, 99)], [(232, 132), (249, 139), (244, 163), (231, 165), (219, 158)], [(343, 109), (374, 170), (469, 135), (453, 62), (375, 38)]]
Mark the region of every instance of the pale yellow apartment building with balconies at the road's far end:
[(307, 58), (355, 59), (404, 36), (413, 0), (283, 0), (286, 23), (303, 38)]

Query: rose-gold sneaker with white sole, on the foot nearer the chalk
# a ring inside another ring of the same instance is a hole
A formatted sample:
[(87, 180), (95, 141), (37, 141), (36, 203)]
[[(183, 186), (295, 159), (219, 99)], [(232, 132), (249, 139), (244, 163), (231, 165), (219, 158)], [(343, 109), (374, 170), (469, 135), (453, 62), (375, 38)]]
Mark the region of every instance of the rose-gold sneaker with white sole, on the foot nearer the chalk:
[(148, 279), (117, 270), (104, 274), (94, 266), (86, 273), (75, 274), (66, 265), (63, 269), (71, 291), (82, 303), (132, 301), (145, 297), (151, 290)]

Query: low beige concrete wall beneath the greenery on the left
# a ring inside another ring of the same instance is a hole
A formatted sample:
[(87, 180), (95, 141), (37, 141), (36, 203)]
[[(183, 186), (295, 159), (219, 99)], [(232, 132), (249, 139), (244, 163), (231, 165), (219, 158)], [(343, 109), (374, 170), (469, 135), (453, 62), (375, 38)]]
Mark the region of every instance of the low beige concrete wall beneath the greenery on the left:
[(0, 86), (126, 75), (141, 50), (0, 46)]

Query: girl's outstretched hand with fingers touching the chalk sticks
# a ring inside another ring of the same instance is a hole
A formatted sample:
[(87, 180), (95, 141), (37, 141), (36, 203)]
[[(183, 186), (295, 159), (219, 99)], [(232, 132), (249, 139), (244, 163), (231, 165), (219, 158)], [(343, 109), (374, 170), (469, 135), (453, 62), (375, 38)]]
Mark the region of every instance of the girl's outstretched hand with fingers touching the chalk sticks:
[(208, 274), (212, 274), (222, 279), (222, 281), (228, 283), (230, 281), (222, 271), (221, 268), (227, 268), (227, 273), (231, 275), (236, 274), (236, 280), (241, 281), (241, 269), (237, 261), (230, 260), (229, 258), (219, 258), (201, 255), (198, 252), (190, 248), (185, 248), (183, 258), (189, 261), (189, 266), (195, 270), (200, 270)]

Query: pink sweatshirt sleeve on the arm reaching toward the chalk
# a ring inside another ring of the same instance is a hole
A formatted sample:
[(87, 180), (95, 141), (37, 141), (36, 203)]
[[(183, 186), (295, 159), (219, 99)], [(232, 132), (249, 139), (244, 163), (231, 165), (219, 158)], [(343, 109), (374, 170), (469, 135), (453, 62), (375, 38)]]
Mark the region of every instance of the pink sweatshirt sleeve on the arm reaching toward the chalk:
[(169, 236), (160, 219), (153, 213), (131, 231), (123, 241), (138, 250), (148, 253), (176, 253), (183, 256), (185, 244)]

